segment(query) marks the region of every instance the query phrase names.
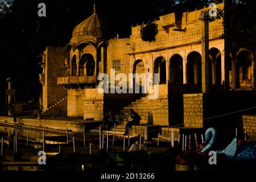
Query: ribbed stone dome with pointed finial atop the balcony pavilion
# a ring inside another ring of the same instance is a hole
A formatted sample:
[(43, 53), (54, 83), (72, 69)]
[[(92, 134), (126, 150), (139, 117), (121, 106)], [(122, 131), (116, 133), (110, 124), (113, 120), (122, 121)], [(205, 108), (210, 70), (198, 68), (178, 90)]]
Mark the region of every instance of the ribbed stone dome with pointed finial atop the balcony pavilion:
[(93, 14), (77, 25), (73, 30), (73, 36), (92, 35), (96, 38), (100, 38), (101, 36), (104, 36), (104, 33), (105, 23), (96, 13), (95, 4)]

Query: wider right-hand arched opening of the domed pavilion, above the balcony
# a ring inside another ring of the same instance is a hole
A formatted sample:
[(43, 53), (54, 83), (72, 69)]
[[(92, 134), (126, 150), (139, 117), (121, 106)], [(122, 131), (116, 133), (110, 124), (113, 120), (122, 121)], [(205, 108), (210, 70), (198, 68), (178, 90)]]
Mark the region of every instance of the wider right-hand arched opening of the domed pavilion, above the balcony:
[(93, 55), (84, 53), (79, 61), (79, 76), (93, 76), (95, 72), (95, 61)]

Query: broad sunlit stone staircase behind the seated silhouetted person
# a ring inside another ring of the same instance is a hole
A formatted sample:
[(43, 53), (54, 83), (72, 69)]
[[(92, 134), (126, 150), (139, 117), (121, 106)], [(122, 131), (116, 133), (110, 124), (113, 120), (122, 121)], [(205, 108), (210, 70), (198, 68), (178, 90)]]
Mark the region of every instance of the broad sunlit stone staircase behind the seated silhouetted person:
[[(115, 127), (115, 135), (122, 135), (125, 133), (126, 123), (129, 121), (130, 113), (129, 110), (133, 109), (141, 116), (140, 125), (133, 126), (130, 131), (130, 136), (135, 137), (139, 133), (143, 133), (146, 130), (146, 138), (155, 137), (158, 135), (161, 127), (164, 125), (161, 121), (167, 121), (168, 123), (168, 99), (159, 98), (157, 100), (148, 100), (148, 96), (141, 97), (140, 99), (131, 102), (131, 104), (122, 107), (115, 113), (115, 120), (117, 125)], [(158, 131), (159, 130), (159, 131)], [(90, 130), (92, 132), (99, 132), (99, 128)], [(154, 132), (151, 132), (154, 131)], [(109, 130), (103, 131), (103, 134), (109, 133), (109, 135), (114, 134), (114, 127)], [(127, 137), (127, 136), (126, 136)]]

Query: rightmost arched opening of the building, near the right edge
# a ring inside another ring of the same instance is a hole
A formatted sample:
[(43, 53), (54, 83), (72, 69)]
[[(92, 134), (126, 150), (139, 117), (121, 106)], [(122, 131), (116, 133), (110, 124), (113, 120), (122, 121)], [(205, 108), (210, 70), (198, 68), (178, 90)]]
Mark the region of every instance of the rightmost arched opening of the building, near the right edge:
[(253, 60), (249, 51), (244, 49), (238, 53), (236, 63), (237, 88), (251, 88), (253, 86), (252, 63)]

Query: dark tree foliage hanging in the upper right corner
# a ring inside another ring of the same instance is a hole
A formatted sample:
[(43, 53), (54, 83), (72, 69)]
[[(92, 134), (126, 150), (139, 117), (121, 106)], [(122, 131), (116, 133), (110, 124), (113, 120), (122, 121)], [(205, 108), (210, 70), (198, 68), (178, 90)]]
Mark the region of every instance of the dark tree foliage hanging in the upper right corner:
[(223, 38), (226, 40), (226, 51), (237, 52), (241, 47), (255, 51), (255, 1), (225, 1), (224, 9)]

